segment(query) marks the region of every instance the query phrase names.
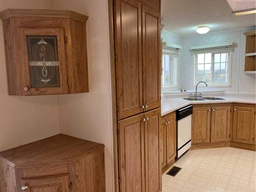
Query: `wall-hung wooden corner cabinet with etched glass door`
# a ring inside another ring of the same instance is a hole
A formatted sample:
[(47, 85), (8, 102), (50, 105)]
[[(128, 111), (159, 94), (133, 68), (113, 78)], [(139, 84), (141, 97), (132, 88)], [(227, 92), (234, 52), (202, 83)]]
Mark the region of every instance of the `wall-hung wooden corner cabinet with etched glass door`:
[(87, 16), (73, 11), (8, 9), (0, 18), (9, 95), (89, 92)]

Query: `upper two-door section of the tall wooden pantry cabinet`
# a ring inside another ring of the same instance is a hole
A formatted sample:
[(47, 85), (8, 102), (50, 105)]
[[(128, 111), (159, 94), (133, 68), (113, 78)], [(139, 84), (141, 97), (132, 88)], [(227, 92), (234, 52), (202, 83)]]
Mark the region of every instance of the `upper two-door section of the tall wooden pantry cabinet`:
[(118, 119), (160, 106), (160, 12), (146, 5), (115, 1)]

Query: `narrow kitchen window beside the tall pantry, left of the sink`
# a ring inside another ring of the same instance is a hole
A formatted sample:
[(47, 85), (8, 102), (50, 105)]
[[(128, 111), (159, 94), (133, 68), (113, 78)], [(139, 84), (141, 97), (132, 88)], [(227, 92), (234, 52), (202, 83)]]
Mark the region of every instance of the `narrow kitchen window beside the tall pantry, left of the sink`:
[(177, 60), (178, 55), (171, 54), (163, 49), (162, 54), (162, 89), (177, 86)]

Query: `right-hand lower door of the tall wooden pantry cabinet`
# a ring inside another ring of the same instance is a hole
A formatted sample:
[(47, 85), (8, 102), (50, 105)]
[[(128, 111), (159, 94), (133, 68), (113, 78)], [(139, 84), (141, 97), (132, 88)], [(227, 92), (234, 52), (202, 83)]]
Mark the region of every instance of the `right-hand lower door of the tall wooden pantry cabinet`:
[(161, 191), (159, 153), (160, 109), (145, 113), (145, 186), (146, 192)]

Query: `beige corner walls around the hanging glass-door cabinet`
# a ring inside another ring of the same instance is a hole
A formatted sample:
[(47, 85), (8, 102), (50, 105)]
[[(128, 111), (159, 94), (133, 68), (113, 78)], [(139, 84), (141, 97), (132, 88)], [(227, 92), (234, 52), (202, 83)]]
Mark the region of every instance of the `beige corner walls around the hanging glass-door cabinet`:
[(58, 133), (103, 143), (106, 191), (114, 191), (108, 1), (0, 0), (0, 11), (6, 8), (66, 9), (88, 15), (90, 92), (59, 96), (8, 96), (0, 24), (0, 151)]

